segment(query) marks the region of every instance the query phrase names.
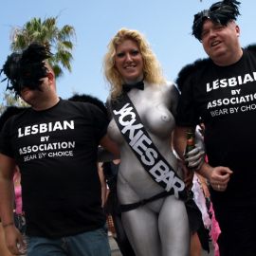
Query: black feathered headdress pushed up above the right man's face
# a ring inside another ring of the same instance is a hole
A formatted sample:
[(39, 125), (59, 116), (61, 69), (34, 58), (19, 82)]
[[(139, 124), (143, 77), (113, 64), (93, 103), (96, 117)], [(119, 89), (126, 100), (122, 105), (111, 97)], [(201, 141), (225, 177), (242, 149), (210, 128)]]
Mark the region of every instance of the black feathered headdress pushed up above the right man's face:
[(229, 21), (236, 20), (239, 12), (240, 2), (236, 0), (223, 0), (211, 5), (210, 9), (204, 9), (194, 15), (192, 35), (201, 40), (204, 21), (210, 19), (213, 23), (226, 26)]

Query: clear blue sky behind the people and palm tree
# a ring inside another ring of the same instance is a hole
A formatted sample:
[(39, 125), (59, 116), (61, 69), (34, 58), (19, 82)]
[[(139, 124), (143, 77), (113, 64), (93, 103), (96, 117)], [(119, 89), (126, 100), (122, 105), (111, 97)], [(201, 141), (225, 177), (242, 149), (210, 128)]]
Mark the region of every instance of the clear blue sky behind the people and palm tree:
[[(90, 94), (105, 101), (108, 83), (104, 80), (102, 59), (111, 38), (121, 27), (141, 31), (152, 46), (164, 74), (174, 81), (178, 71), (198, 58), (206, 57), (192, 37), (193, 15), (209, 9), (211, 0), (8, 0), (0, 15), (0, 66), (10, 54), (10, 31), (33, 17), (59, 16), (58, 26), (75, 27), (72, 73), (64, 72), (57, 81), (58, 94), (66, 99), (73, 93)], [(256, 43), (255, 0), (242, 2), (238, 17), (241, 45)], [(0, 101), (6, 83), (0, 84)]]

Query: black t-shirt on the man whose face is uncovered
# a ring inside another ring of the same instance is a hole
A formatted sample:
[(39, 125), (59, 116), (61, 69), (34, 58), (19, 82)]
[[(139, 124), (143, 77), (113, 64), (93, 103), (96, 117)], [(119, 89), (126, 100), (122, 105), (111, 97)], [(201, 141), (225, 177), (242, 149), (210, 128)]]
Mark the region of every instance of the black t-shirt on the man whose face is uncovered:
[(213, 202), (256, 204), (255, 49), (244, 49), (236, 64), (221, 67), (208, 59), (194, 67), (180, 84), (177, 125), (193, 126), (202, 118), (210, 165), (234, 172), (226, 192), (211, 192)]

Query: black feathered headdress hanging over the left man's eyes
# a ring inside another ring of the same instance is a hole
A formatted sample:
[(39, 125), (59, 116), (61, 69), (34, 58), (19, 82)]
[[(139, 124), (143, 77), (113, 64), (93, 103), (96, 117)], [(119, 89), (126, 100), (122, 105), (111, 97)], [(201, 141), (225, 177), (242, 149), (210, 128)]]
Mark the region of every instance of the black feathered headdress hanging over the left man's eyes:
[[(41, 79), (47, 75), (47, 68), (44, 61), (51, 57), (51, 53), (46, 46), (32, 43), (21, 53), (13, 52), (8, 56), (0, 74), (3, 72), (8, 80), (7, 89), (20, 94), (22, 87), (29, 89), (39, 89)], [(9, 84), (10, 83), (10, 84)]]

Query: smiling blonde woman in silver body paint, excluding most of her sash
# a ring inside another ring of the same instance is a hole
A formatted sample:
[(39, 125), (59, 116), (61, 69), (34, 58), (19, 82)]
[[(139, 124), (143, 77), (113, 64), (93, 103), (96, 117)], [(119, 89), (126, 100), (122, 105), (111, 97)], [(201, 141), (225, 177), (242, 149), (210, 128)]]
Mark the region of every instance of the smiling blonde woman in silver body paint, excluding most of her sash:
[[(109, 43), (104, 72), (111, 84), (109, 108), (113, 108), (110, 101), (121, 101), (128, 95), (158, 152), (181, 175), (171, 148), (178, 91), (174, 83), (164, 79), (155, 54), (140, 32), (127, 28), (118, 31)], [(137, 129), (130, 130), (130, 137), (136, 133)], [(119, 202), (124, 208), (132, 206), (122, 212), (122, 223), (136, 255), (189, 255), (190, 231), (184, 202), (174, 194), (142, 201), (162, 194), (164, 188), (145, 171), (114, 119), (108, 135), (119, 144)], [(149, 147), (143, 141), (137, 146), (138, 154)], [(153, 160), (155, 154), (148, 156)]]

